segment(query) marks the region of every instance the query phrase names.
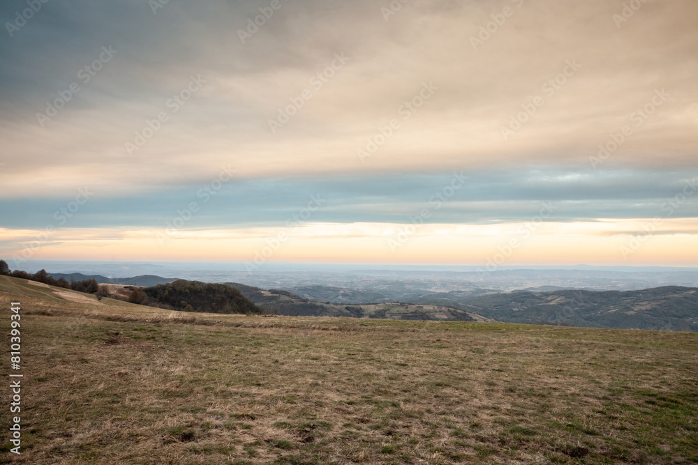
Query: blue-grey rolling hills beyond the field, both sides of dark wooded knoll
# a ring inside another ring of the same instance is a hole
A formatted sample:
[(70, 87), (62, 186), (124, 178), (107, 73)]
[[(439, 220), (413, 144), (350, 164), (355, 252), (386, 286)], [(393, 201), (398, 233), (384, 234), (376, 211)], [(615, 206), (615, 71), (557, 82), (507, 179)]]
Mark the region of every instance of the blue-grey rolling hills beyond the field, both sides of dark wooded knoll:
[[(109, 278), (82, 273), (49, 273), (68, 281), (94, 279), (101, 284), (154, 287), (175, 278), (156, 275)], [(522, 291), (481, 289), (419, 291), (350, 289), (303, 285), (261, 289), (226, 282), (265, 312), (303, 317), (357, 317), (434, 321), (505, 321), (590, 328), (678, 330), (698, 332), (698, 288), (654, 287), (633, 291), (560, 289), (552, 284)], [(410, 289), (413, 287), (413, 289)], [(416, 287), (416, 286), (415, 286)], [(184, 299), (186, 300), (186, 299)]]

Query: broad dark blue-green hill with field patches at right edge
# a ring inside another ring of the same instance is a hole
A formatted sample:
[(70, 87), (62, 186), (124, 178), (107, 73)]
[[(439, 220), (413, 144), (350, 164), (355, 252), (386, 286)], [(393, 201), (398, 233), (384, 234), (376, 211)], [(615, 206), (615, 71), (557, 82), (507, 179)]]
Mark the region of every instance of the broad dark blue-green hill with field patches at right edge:
[(698, 331), (698, 289), (688, 287), (623, 292), (521, 291), (454, 300), (448, 302), (512, 323)]

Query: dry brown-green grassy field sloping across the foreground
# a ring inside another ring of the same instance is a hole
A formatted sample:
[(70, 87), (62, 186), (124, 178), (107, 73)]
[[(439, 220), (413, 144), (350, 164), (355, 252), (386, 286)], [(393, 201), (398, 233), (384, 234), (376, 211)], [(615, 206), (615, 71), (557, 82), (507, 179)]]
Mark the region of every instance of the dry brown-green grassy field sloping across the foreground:
[(695, 333), (65, 298), (0, 277), (25, 376), (23, 453), (3, 462), (698, 463)]

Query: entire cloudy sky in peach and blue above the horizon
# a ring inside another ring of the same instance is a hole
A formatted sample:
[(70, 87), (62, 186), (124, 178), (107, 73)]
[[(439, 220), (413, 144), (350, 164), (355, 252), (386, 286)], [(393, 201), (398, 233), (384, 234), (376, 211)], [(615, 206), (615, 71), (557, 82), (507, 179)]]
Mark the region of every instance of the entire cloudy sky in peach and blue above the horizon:
[(698, 266), (695, 0), (4, 1), (0, 257)]

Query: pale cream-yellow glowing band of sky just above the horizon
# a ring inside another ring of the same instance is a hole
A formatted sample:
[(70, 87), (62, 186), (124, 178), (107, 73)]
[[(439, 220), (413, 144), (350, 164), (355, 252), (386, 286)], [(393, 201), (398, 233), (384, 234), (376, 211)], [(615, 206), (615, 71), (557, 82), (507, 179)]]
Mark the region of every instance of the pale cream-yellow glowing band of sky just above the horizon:
[[(274, 261), (329, 261), (336, 263), (473, 264), (483, 266), (510, 244), (519, 241), (509, 265), (579, 264), (593, 261), (605, 264), (673, 263), (689, 266), (698, 259), (695, 247), (695, 219), (669, 220), (664, 229), (684, 230), (686, 234), (649, 236), (644, 245), (625, 261), (620, 247), (628, 236), (609, 236), (607, 231), (641, 229), (642, 220), (607, 222), (463, 225), (427, 224), (420, 226), (398, 250), (389, 240), (399, 237), (399, 224), (313, 223), (302, 227), (250, 227), (236, 229), (194, 229), (177, 231), (160, 243), (154, 229), (72, 229), (56, 231), (49, 241), (33, 245), (40, 231), (25, 231), (15, 247), (2, 245), (0, 253), (13, 259), (21, 251), (34, 260), (107, 261), (247, 261), (255, 252), (269, 246), (285, 233), (288, 239), (274, 247)], [(662, 229), (662, 231), (664, 230)], [(0, 229), (0, 243), (7, 231)], [(104, 233), (107, 234), (104, 234)], [(15, 234), (13, 231), (10, 235)], [(570, 246), (570, 238), (574, 247)], [(26, 248), (29, 247), (29, 248)], [(22, 261), (13, 268), (22, 268)]]

